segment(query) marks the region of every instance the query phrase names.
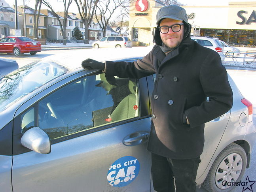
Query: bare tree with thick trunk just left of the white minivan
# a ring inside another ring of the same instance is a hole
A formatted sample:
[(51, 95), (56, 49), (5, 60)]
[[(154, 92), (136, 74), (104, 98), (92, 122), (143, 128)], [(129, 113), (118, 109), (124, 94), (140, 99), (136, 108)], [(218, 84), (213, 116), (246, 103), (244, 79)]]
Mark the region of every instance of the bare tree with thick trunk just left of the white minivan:
[[(85, 40), (84, 43), (89, 43), (89, 25), (93, 20), (96, 6), (99, 0), (74, 0), (78, 7), (80, 19), (84, 24)], [(83, 2), (82, 2), (83, 1)]]

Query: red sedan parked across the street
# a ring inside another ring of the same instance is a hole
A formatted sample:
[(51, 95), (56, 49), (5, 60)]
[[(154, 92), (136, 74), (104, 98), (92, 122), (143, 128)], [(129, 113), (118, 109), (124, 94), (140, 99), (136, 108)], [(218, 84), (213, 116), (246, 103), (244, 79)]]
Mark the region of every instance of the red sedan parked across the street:
[(0, 53), (13, 53), (19, 56), (22, 53), (36, 55), (41, 51), (41, 43), (27, 37), (9, 36), (0, 40)]

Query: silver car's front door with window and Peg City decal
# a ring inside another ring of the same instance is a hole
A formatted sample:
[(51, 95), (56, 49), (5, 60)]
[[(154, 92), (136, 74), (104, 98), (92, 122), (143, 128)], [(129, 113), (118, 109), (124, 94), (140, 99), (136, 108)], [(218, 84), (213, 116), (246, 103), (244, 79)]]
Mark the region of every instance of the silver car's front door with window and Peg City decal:
[[(18, 109), (13, 191), (150, 191), (146, 79), (116, 78), (110, 84), (104, 74), (80, 73)], [(48, 134), (49, 154), (20, 144), (22, 135), (35, 126)]]

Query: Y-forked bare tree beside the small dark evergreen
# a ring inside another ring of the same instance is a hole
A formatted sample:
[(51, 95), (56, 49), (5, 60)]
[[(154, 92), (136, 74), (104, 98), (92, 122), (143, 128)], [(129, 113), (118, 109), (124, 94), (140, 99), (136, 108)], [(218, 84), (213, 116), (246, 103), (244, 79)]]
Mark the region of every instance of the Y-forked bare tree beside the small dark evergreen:
[(60, 23), (61, 26), (61, 32), (63, 34), (63, 45), (66, 45), (66, 26), (67, 26), (67, 16), (68, 16), (68, 8), (70, 7), (70, 4), (72, 3), (72, 0), (62, 0), (64, 5), (64, 12), (63, 12), (63, 23), (61, 23), (61, 20), (59, 18), (59, 15), (53, 10), (51, 4), (47, 0), (42, 0), (43, 4), (46, 5), (48, 8), (51, 9), (54, 16), (57, 18), (57, 20)]

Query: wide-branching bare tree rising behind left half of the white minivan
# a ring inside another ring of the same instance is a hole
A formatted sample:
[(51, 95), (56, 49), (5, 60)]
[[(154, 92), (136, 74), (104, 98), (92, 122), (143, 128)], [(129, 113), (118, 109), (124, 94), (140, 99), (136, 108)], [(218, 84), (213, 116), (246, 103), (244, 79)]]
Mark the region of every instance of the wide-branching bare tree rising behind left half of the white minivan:
[[(110, 21), (110, 18), (112, 17), (115, 10), (123, 4), (125, 0), (101, 0), (99, 1), (96, 12), (99, 13), (99, 15), (96, 15), (95, 19), (100, 25), (100, 28), (103, 32), (103, 37), (106, 36), (106, 30), (108, 23)], [(99, 18), (100, 17), (100, 18)]]

